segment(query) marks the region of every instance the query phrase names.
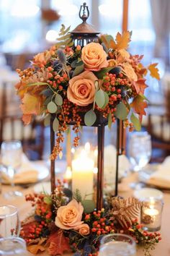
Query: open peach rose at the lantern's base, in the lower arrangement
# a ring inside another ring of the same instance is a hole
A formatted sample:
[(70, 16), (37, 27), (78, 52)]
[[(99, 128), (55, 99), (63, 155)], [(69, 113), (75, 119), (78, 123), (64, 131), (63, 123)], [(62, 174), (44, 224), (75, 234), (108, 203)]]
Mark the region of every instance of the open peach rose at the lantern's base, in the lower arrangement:
[(84, 221), (81, 221), (83, 211), (84, 208), (81, 202), (73, 199), (68, 205), (58, 208), (55, 225), (61, 229), (76, 229), (77, 226), (84, 223)]

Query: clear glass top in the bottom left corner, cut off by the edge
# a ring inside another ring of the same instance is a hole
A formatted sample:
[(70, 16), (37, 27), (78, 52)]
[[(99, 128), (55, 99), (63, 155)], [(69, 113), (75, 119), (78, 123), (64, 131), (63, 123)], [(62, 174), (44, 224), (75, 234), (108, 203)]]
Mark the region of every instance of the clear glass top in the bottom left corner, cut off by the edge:
[(27, 248), (24, 239), (19, 237), (0, 239), (0, 256), (26, 256)]

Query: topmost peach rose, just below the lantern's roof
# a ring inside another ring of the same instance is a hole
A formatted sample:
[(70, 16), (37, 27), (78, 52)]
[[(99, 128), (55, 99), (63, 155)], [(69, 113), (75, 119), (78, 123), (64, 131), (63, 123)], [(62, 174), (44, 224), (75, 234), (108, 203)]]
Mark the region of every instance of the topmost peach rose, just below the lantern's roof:
[(85, 69), (98, 71), (107, 67), (107, 54), (99, 43), (88, 43), (81, 52), (81, 59), (84, 61)]

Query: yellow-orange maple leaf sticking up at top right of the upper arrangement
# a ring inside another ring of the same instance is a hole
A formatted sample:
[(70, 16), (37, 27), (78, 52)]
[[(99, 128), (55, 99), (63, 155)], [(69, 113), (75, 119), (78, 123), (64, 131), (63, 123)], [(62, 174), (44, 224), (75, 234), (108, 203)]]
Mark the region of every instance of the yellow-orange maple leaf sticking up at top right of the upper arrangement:
[(112, 42), (112, 46), (114, 49), (120, 50), (128, 48), (128, 44), (130, 43), (130, 32), (126, 31), (122, 33), (122, 35), (120, 33), (117, 33), (116, 42), (117, 43), (115, 43), (115, 41)]

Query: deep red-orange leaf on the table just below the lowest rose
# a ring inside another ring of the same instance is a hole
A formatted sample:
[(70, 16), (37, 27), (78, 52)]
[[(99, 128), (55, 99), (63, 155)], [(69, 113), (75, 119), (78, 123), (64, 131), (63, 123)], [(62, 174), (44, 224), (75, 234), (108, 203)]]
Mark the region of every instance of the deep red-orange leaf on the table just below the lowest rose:
[(63, 252), (68, 252), (70, 250), (69, 239), (63, 235), (63, 231), (61, 229), (50, 234), (47, 243), (50, 243), (48, 252), (53, 256), (63, 255)]

